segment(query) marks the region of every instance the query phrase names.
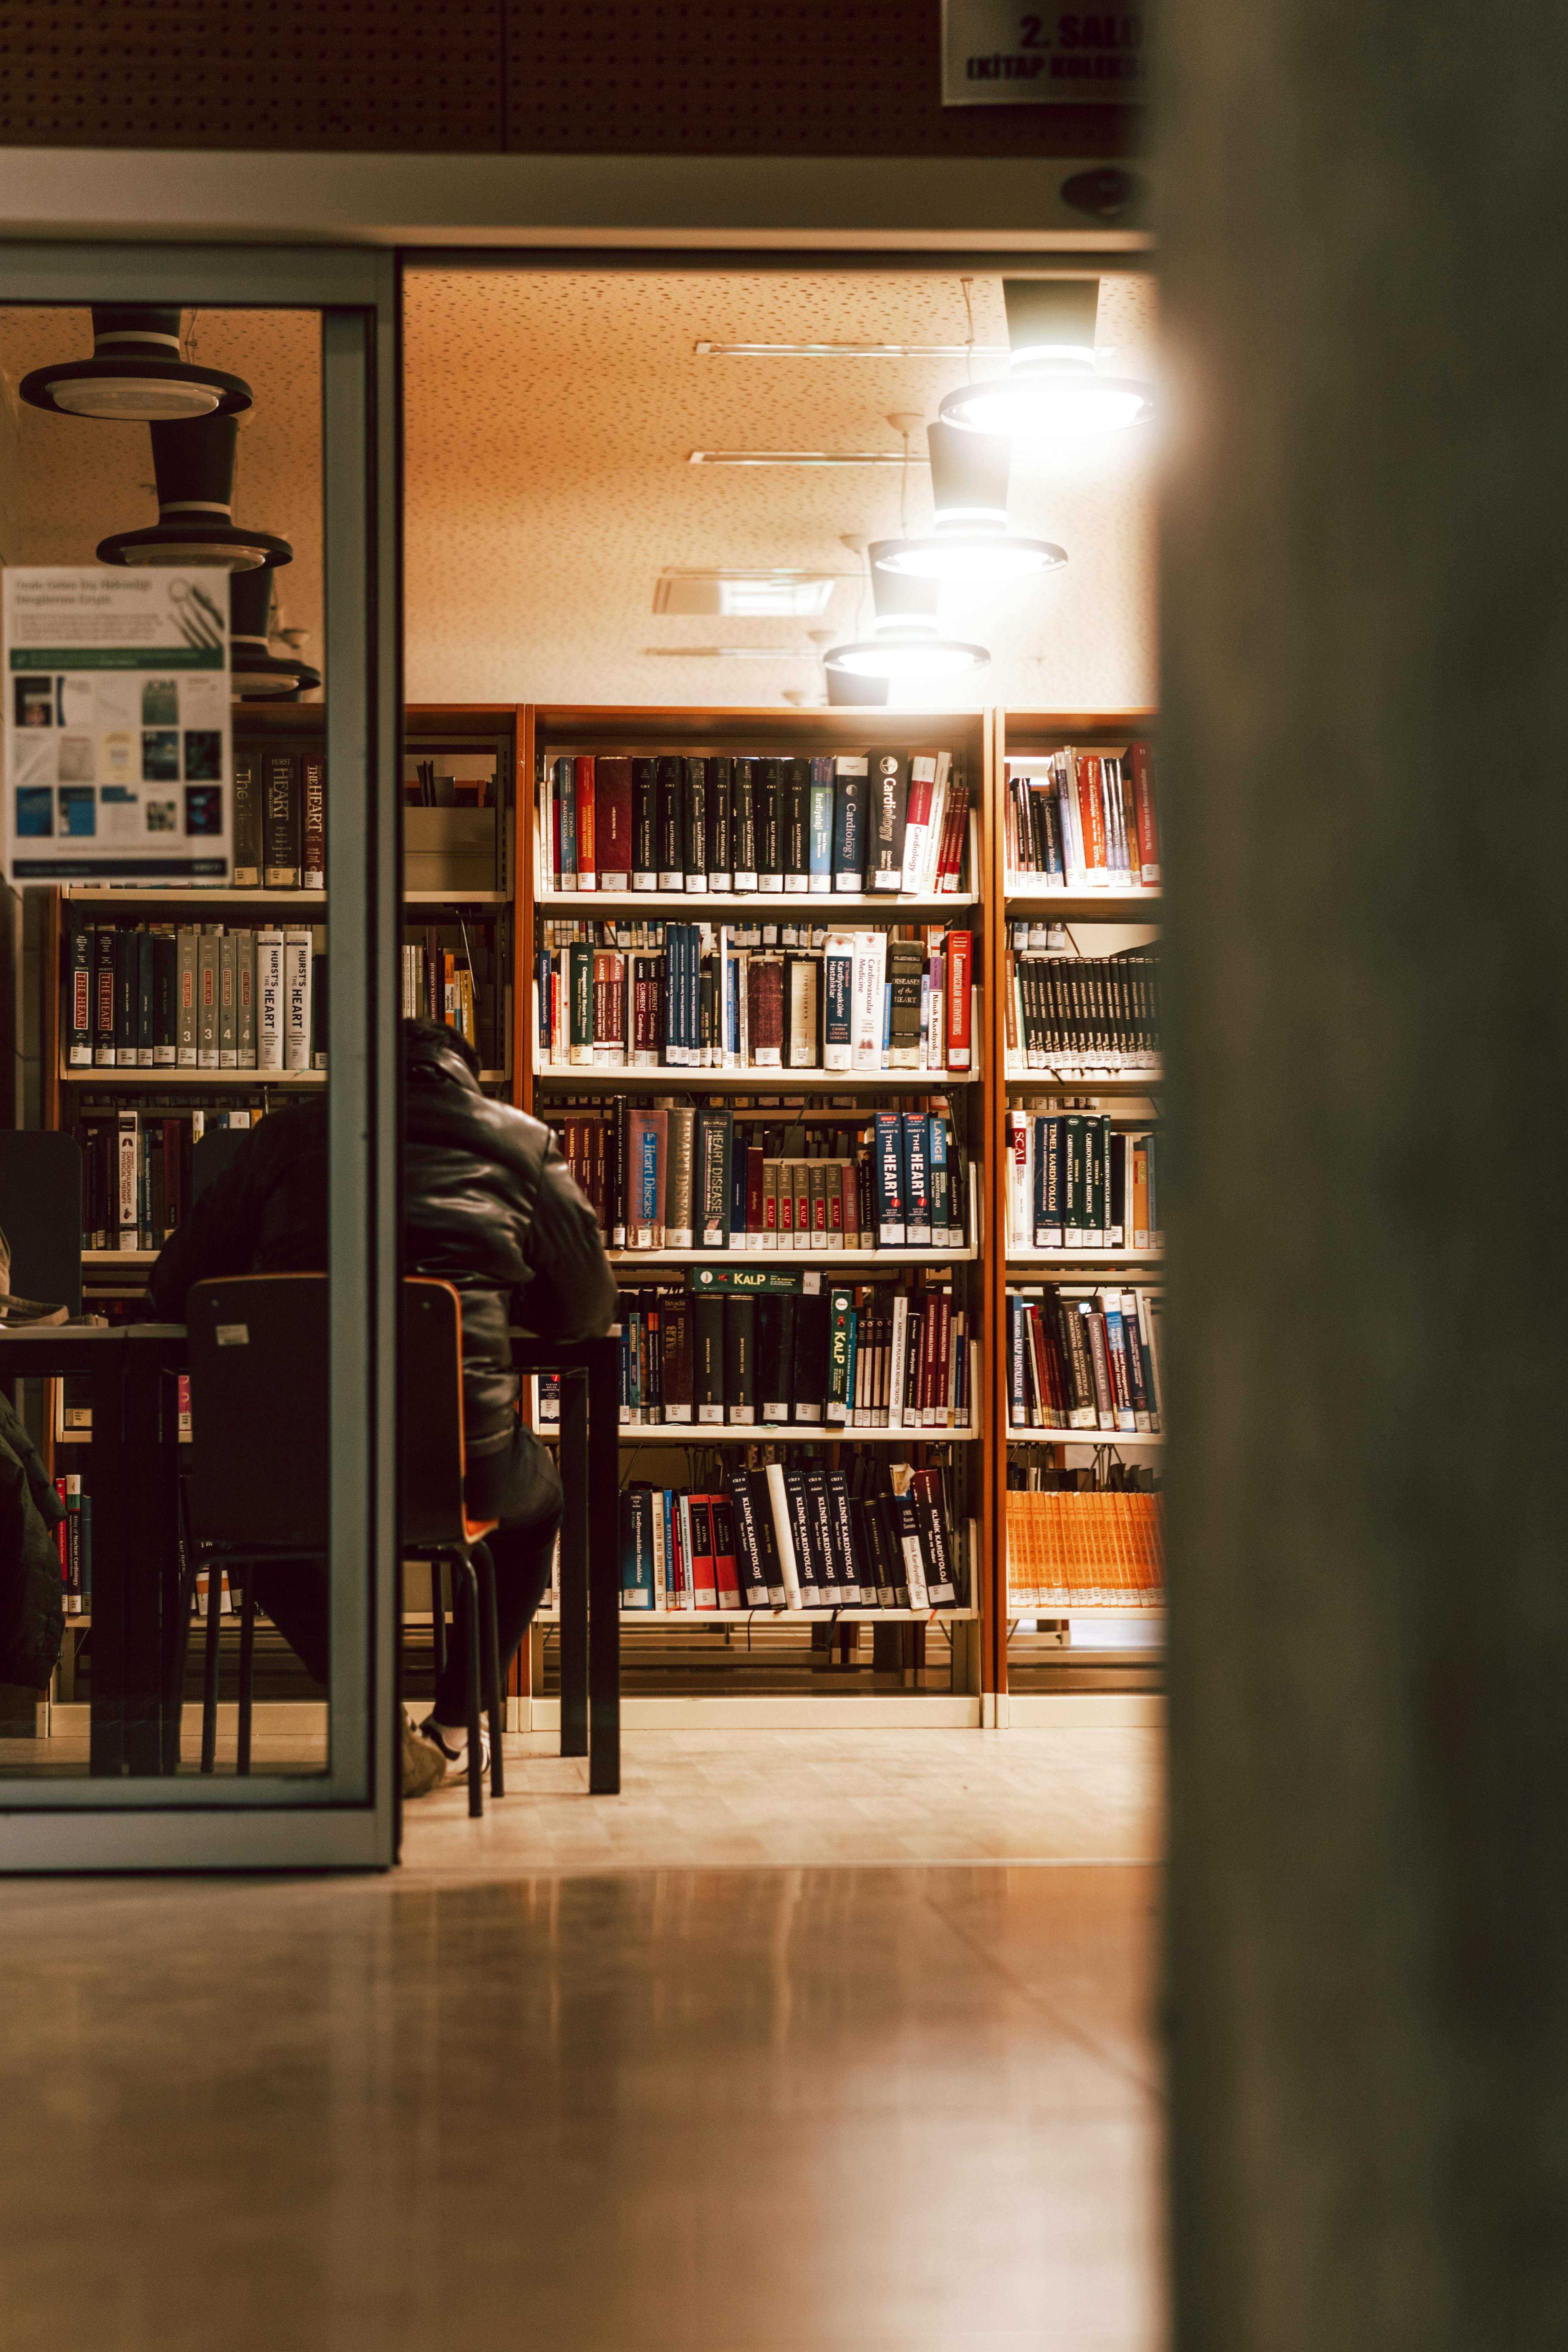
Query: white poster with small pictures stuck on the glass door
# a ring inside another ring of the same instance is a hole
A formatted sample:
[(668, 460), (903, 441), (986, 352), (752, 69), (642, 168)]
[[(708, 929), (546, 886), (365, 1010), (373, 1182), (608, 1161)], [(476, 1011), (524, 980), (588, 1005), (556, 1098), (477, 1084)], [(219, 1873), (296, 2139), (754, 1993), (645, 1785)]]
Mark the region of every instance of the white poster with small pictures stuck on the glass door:
[(228, 572), (5, 572), (5, 870), (228, 882)]

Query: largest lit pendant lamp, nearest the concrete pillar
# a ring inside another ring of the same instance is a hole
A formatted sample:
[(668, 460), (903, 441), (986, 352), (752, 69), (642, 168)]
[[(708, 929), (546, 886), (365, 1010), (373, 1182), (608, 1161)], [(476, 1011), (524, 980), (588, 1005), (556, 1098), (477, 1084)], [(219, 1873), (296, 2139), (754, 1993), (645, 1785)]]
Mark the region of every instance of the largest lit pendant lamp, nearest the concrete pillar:
[(1004, 278), (1009, 374), (947, 393), (943, 423), (1046, 454), (1154, 414), (1154, 386), (1095, 374), (1098, 278)]

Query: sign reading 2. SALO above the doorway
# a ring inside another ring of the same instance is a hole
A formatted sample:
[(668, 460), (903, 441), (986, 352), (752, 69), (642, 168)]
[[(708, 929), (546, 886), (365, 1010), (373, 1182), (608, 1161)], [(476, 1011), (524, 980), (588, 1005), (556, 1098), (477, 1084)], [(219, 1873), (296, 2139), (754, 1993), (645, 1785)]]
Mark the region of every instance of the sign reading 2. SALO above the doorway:
[(1147, 9), (943, 0), (943, 106), (1138, 106)]

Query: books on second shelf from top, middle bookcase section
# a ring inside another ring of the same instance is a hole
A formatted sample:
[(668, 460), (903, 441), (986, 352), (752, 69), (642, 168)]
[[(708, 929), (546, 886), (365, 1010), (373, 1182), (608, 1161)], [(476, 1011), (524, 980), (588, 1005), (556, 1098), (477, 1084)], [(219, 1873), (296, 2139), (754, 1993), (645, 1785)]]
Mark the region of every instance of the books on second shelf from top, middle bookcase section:
[[(550, 1065), (597, 1070), (971, 1070), (973, 931), (811, 931), (665, 922), (658, 946), (550, 924), (536, 1033)], [(571, 936), (562, 936), (562, 931)]]

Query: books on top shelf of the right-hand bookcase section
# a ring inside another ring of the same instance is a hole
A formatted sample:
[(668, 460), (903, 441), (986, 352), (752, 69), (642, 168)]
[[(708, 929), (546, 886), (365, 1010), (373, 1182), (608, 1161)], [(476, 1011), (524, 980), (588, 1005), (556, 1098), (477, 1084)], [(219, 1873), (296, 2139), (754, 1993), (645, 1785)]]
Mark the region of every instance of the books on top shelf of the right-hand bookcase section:
[(1004, 861), (1009, 889), (1159, 889), (1150, 746), (1009, 760)]

